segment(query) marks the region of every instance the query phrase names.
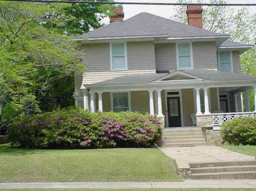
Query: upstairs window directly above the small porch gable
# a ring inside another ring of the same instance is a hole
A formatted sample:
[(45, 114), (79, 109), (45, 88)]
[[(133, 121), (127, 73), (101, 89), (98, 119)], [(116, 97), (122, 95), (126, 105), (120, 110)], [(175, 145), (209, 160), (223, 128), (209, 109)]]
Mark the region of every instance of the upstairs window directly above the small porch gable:
[(192, 43), (177, 43), (177, 69), (193, 69)]

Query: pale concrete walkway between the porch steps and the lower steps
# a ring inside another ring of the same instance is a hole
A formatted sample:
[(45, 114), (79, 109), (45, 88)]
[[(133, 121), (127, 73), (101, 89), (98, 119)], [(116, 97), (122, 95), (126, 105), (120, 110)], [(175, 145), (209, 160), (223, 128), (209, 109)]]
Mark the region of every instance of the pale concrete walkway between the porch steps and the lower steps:
[(189, 168), (189, 163), (255, 160), (254, 156), (240, 154), (218, 146), (162, 147), (170, 158), (176, 160), (178, 168)]

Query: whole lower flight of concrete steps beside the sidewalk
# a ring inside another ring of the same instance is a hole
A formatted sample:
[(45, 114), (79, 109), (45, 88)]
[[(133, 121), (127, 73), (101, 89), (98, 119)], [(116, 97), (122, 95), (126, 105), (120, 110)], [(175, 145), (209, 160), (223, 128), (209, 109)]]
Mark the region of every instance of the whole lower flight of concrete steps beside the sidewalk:
[(190, 163), (189, 179), (256, 179), (256, 160)]

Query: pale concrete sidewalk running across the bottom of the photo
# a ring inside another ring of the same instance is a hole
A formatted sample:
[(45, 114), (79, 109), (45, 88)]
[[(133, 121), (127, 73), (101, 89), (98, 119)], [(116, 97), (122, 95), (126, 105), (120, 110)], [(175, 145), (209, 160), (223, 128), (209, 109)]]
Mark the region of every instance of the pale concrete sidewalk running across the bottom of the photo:
[(0, 183), (11, 188), (256, 188), (255, 180), (185, 180), (184, 182), (28, 182)]

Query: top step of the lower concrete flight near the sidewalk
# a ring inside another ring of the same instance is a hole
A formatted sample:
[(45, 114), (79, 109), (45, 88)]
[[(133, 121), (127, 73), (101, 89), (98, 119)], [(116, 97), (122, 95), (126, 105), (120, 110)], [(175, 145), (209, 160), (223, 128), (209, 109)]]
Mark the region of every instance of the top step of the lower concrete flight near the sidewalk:
[(226, 162), (207, 162), (207, 163), (189, 163), (191, 168), (201, 167), (226, 167), (226, 166), (241, 166), (241, 165), (256, 165), (256, 160), (242, 161), (226, 161)]

